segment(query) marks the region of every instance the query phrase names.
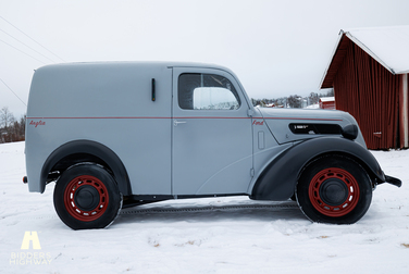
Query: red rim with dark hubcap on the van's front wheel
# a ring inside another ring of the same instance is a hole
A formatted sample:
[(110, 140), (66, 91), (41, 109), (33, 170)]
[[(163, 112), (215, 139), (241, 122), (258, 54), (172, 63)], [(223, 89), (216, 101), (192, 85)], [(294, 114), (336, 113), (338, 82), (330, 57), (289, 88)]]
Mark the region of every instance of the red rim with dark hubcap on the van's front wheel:
[(359, 200), (359, 185), (342, 169), (325, 169), (312, 179), (308, 189), (315, 210), (327, 216), (343, 216), (351, 212)]

